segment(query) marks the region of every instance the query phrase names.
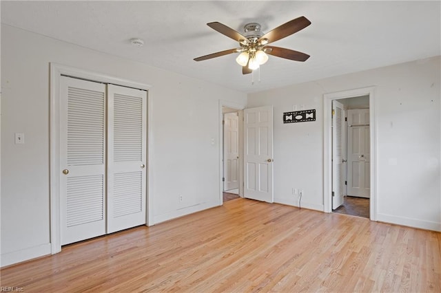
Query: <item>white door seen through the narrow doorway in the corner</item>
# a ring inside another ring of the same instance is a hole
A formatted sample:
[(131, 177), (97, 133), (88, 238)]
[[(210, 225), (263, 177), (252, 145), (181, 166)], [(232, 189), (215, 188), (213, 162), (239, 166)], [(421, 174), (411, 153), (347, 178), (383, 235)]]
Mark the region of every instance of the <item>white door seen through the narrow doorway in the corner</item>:
[(224, 114), (223, 125), (223, 190), (239, 188), (239, 120), (238, 113)]

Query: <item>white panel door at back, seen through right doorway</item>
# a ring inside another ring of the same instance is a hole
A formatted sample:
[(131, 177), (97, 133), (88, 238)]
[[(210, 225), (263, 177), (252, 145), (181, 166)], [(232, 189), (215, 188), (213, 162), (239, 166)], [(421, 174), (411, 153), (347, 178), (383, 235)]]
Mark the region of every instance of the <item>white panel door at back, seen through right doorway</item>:
[(369, 109), (347, 110), (347, 195), (370, 195)]

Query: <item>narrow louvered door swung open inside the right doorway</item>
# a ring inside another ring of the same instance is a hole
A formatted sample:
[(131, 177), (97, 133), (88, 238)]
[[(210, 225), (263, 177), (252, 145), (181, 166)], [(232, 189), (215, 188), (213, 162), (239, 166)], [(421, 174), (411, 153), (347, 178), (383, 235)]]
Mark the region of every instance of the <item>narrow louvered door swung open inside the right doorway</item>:
[(343, 204), (343, 133), (345, 116), (342, 103), (332, 101), (332, 209)]

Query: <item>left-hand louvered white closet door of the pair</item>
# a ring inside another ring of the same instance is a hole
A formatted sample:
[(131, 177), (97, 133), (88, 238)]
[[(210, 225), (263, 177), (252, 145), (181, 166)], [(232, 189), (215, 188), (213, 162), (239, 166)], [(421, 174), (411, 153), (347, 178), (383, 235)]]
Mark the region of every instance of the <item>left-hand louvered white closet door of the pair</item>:
[(61, 245), (105, 234), (105, 85), (61, 77)]

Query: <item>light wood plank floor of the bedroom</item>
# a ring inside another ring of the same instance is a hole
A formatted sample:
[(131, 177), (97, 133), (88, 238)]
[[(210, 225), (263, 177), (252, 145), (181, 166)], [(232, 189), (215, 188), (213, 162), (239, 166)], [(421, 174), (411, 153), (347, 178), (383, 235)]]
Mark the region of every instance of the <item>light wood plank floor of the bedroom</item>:
[(441, 292), (441, 233), (235, 199), (1, 270), (24, 292)]

